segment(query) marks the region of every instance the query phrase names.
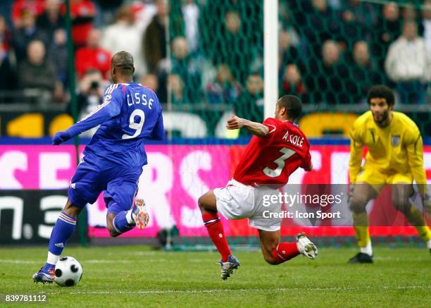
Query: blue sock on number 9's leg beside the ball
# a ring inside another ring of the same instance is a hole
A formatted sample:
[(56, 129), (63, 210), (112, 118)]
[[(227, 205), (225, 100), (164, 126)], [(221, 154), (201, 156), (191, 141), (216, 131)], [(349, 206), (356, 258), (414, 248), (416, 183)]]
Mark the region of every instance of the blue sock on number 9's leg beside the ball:
[(61, 212), (56, 221), (56, 225), (52, 229), (51, 238), (49, 238), (48, 260), (44, 269), (52, 269), (56, 266), (57, 259), (63, 252), (63, 249), (68, 242), (70, 236), (73, 235), (76, 226), (76, 217), (69, 216)]

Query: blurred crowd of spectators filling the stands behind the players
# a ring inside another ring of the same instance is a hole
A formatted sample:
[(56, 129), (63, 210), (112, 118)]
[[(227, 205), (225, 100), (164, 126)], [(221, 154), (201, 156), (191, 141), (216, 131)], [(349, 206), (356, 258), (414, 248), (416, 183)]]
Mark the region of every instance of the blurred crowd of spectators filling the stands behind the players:
[[(65, 4), (9, 2), (10, 11), (0, 11), (0, 91), (37, 93), (41, 101), (67, 106)], [(111, 56), (126, 50), (135, 58), (136, 80), (163, 103), (227, 104), (260, 120), (263, 1), (70, 0), (70, 11), (82, 113), (101, 101)], [(371, 85), (383, 83), (404, 104), (429, 101), (431, 0), (402, 7), (280, 0), (279, 19), (280, 95), (356, 104)]]

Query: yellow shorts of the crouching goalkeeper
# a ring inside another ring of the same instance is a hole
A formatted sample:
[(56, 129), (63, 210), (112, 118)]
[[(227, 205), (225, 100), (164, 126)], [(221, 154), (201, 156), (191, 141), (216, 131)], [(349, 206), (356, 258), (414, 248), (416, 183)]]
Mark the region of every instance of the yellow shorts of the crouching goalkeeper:
[(384, 185), (413, 183), (413, 175), (411, 173), (385, 174), (375, 168), (368, 167), (359, 173), (356, 183), (367, 183), (379, 192)]

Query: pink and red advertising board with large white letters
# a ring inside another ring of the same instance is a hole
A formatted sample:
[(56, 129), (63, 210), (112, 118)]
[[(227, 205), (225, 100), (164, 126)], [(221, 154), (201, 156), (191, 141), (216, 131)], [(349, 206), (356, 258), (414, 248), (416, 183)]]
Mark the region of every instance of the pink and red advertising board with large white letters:
[[(81, 150), (83, 147), (81, 148)], [(146, 146), (149, 165), (139, 180), (139, 195), (146, 200), (151, 221), (143, 232), (132, 230), (123, 236), (154, 236), (160, 228), (177, 226), (182, 236), (206, 236), (197, 207), (201, 194), (215, 187), (223, 187), (232, 176), (244, 146), (158, 144)], [(314, 170), (296, 171), (289, 179), (292, 184), (347, 184), (349, 147), (346, 145), (314, 145), (311, 149)], [(75, 171), (75, 150), (72, 145), (0, 145), (0, 190), (51, 190), (68, 187)], [(431, 147), (424, 149), (424, 163), (431, 182)], [(409, 226), (402, 226), (403, 218), (388, 202), (383, 191), (370, 209), (370, 222), (379, 225), (384, 216), (393, 216), (394, 226), (370, 228), (372, 235), (413, 235)], [(103, 198), (89, 204), (90, 236), (105, 237), (106, 207)], [(254, 235), (248, 221), (223, 221), (227, 235)], [(282, 234), (299, 230), (313, 236), (354, 235), (350, 226), (334, 226), (330, 221), (318, 226), (301, 225), (291, 221), (282, 227)]]

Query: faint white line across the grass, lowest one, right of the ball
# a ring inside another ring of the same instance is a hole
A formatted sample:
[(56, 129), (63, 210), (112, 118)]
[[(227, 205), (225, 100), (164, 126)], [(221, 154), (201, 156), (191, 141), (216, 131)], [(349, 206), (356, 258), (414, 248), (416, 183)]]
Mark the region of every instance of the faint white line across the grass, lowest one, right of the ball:
[[(431, 285), (400, 285), (398, 287), (384, 286), (380, 290), (411, 290), (411, 289), (430, 289)], [(292, 290), (304, 291), (352, 291), (352, 290), (378, 290), (376, 288), (273, 288), (273, 289), (212, 289), (212, 290), (137, 290), (137, 291), (73, 291), (68, 294), (89, 294), (89, 295), (115, 295), (115, 294), (199, 294), (199, 293), (224, 293), (224, 292), (284, 292)], [(47, 294), (58, 294), (56, 292), (46, 292)]]

